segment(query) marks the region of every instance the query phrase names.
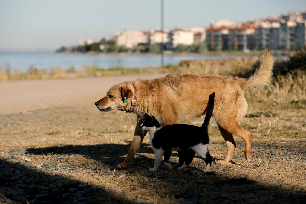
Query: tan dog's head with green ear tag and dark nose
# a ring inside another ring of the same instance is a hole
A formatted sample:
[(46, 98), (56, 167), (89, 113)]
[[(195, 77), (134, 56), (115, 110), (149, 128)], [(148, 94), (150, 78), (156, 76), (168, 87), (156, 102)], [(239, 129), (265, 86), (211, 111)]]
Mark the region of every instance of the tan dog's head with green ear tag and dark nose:
[(116, 109), (128, 111), (132, 104), (132, 90), (133, 85), (130, 81), (116, 84), (106, 92), (106, 96), (95, 102), (95, 105), (102, 112), (108, 112)]

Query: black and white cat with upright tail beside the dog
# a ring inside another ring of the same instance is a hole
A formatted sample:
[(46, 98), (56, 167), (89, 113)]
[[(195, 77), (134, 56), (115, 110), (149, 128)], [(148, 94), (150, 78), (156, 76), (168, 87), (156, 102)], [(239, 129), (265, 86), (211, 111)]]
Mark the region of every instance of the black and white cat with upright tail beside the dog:
[(164, 162), (172, 169), (169, 159), (171, 150), (176, 150), (179, 155), (179, 164), (177, 169), (181, 170), (187, 167), (193, 160), (195, 153), (206, 162), (206, 168), (203, 172), (210, 170), (211, 156), (208, 152), (209, 137), (208, 124), (214, 110), (215, 93), (209, 96), (207, 112), (202, 127), (174, 124), (161, 127), (154, 116), (145, 115), (145, 119), (141, 124), (144, 130), (148, 130), (150, 134), (150, 143), (155, 153), (155, 166), (149, 171), (157, 170), (162, 155)]

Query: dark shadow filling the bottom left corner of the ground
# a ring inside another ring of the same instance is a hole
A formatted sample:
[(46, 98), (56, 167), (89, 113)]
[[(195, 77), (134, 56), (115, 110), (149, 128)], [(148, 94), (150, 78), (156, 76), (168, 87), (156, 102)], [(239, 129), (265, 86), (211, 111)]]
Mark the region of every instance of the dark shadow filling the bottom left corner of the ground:
[(0, 164), (0, 203), (135, 203), (65, 175), (50, 175), (3, 159)]

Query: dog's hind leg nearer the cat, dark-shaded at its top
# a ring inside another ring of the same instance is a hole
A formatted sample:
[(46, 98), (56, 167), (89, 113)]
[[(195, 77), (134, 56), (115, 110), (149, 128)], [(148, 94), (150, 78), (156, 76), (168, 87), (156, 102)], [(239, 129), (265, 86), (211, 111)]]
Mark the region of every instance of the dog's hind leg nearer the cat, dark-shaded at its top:
[(236, 149), (236, 142), (234, 141), (232, 133), (229, 133), (228, 131), (224, 130), (219, 124), (218, 127), (226, 143), (226, 155), (224, 160), (218, 160), (217, 164), (228, 164), (233, 156), (234, 150)]

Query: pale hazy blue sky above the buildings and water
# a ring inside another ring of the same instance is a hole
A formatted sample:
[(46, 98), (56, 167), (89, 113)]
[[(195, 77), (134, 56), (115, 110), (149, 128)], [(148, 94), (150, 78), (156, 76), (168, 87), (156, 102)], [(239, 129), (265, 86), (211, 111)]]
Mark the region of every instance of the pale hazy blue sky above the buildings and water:
[[(161, 25), (160, 0), (0, 0), (0, 49), (36, 50)], [(208, 26), (306, 10), (306, 0), (164, 0), (164, 27)]]

